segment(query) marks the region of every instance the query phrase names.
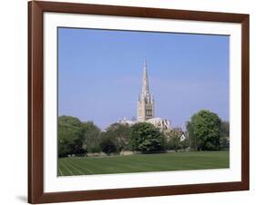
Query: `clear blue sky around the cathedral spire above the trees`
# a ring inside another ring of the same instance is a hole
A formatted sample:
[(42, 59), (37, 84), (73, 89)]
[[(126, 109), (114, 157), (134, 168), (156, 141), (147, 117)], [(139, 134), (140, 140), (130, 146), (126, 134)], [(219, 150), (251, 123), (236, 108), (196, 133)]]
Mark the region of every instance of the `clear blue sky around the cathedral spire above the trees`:
[(155, 115), (185, 127), (201, 109), (229, 120), (230, 38), (58, 28), (58, 115), (101, 129), (137, 117), (143, 58)]

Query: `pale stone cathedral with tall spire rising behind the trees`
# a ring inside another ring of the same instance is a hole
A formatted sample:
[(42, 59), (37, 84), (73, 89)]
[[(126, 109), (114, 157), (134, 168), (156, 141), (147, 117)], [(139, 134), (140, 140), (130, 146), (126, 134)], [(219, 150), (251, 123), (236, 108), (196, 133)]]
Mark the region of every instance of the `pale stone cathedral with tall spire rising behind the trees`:
[(148, 122), (158, 127), (160, 130), (170, 130), (170, 122), (166, 119), (155, 117), (155, 101), (153, 94), (150, 93), (148, 84), (148, 68), (146, 59), (143, 63), (143, 74), (142, 74), (142, 88), (141, 93), (138, 95), (137, 102), (137, 121), (128, 121), (123, 118), (119, 121), (123, 124), (135, 124), (137, 122)]

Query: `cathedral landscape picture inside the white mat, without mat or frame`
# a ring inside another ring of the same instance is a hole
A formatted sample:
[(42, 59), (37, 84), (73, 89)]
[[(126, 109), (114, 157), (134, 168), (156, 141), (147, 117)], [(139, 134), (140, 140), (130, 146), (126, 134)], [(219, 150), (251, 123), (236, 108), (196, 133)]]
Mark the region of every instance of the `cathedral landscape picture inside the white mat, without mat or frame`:
[(57, 27), (57, 176), (230, 168), (230, 36)]

